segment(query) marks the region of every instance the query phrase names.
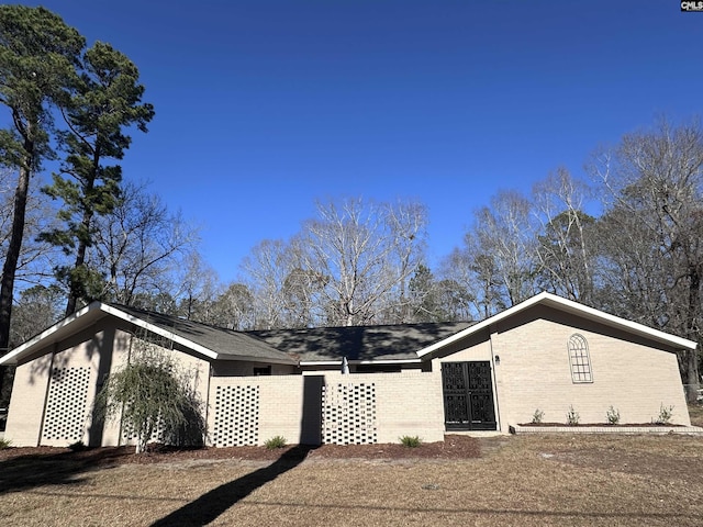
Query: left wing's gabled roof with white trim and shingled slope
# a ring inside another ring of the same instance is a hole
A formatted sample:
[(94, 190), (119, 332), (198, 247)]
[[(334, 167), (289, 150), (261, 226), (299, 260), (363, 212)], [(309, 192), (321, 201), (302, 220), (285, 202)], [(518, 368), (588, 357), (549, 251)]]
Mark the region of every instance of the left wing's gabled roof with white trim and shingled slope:
[(113, 316), (132, 323), (147, 332), (168, 338), (207, 359), (236, 359), (284, 365), (298, 363), (282, 351), (245, 333), (134, 307), (92, 302), (0, 358), (0, 365), (16, 363), (23, 357), (58, 343), (105, 316)]

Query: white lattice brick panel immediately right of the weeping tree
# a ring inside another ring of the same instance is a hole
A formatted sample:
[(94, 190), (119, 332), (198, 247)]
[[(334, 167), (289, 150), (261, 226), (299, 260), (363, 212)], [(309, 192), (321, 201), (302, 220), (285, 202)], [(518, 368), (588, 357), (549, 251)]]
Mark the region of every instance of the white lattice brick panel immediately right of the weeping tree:
[(215, 391), (215, 447), (258, 445), (259, 386), (217, 386)]

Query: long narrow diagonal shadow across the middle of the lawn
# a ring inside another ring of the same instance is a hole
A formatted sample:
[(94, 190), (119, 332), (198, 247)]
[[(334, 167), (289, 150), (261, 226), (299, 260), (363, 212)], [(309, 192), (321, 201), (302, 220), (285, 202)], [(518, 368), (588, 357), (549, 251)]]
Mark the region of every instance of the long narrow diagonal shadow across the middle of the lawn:
[(292, 447), (271, 464), (213, 489), (153, 523), (152, 527), (207, 525), (260, 486), (298, 467), (315, 448), (317, 447), (313, 445)]

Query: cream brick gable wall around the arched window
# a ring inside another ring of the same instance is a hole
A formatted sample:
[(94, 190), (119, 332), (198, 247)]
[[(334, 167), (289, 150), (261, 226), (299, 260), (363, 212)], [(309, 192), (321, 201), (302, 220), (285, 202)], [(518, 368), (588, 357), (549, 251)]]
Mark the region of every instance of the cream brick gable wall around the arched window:
[[(592, 382), (572, 380), (567, 343), (581, 335)], [(670, 350), (673, 351), (673, 350)], [(544, 422), (565, 423), (569, 408), (581, 423), (606, 423), (612, 405), (621, 423), (650, 423), (661, 406), (673, 406), (672, 424), (690, 425), (676, 354), (645, 338), (547, 307), (513, 317), (470, 340), (456, 343), (442, 362), (491, 360), (499, 429), (529, 423), (536, 410)], [(500, 362), (496, 361), (500, 357)]]

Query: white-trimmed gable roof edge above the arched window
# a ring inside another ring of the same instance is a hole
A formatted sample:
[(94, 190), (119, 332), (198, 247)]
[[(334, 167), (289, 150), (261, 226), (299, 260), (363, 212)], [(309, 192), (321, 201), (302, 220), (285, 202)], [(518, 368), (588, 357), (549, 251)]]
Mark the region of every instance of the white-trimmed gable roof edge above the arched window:
[(557, 296), (556, 294), (551, 294), (551, 293), (547, 293), (547, 292), (543, 292), (539, 293), (531, 299), (525, 300), (524, 302), (521, 302), (520, 304), (516, 304), (512, 307), (510, 307), (509, 310), (503, 311), (502, 313), (499, 313), (498, 315), (493, 315), (489, 318), (486, 318), (482, 322), (479, 322), (455, 335), (451, 335), (448, 338), (445, 338), (444, 340), (440, 340), (438, 343), (435, 343), (431, 346), (427, 346), (426, 348), (420, 350), (417, 352), (417, 355), (420, 357), (425, 357), (429, 354), (433, 354), (434, 351), (437, 351), (453, 343), (456, 343), (457, 340), (460, 340), (462, 338), (466, 338), (470, 335), (476, 334), (477, 332), (480, 332), (482, 329), (489, 328), (490, 326), (492, 326), (493, 324), (496, 324), (501, 321), (504, 321), (506, 318), (510, 318), (511, 316), (516, 315), (517, 313), (524, 312), (526, 310), (529, 310), (533, 306), (536, 305), (545, 305), (545, 306), (549, 306), (549, 307), (554, 307), (556, 310), (559, 310), (561, 312), (565, 313), (570, 313), (577, 316), (580, 316), (582, 318), (589, 319), (589, 321), (593, 321), (593, 322), (598, 322), (601, 323), (605, 326), (610, 326), (610, 327), (614, 327), (627, 333), (631, 333), (633, 335), (637, 335), (640, 337), (645, 337), (648, 338), (650, 340), (660, 343), (660, 344), (665, 344), (668, 346), (672, 346), (676, 348), (680, 348), (680, 349), (695, 349), (698, 344), (694, 343), (693, 340), (688, 340), (685, 338), (682, 337), (677, 337), (676, 335), (670, 335), (668, 333), (665, 332), (660, 332), (658, 329), (652, 329), (650, 327), (647, 327), (643, 324), (638, 324), (636, 322), (632, 322), (632, 321), (627, 321), (625, 318), (621, 318), (618, 316), (615, 315), (611, 315), (609, 313), (595, 310), (593, 307), (589, 307), (587, 305), (583, 304), (579, 304), (578, 302), (573, 302), (571, 300), (567, 300), (567, 299), (562, 299), (561, 296)]

